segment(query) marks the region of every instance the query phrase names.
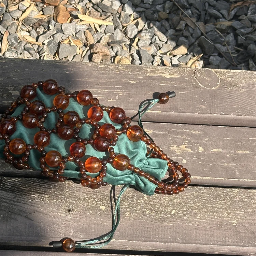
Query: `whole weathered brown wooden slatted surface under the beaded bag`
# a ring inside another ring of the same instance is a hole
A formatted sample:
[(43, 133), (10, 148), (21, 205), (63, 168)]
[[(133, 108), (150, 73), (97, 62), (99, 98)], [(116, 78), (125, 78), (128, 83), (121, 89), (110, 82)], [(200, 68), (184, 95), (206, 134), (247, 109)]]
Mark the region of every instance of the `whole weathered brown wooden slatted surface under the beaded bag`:
[[(50, 78), (71, 91), (89, 89), (101, 104), (120, 106), (128, 116), (154, 92), (176, 92), (143, 121), (155, 142), (190, 170), (191, 185), (172, 197), (129, 188), (114, 239), (85, 255), (256, 255), (254, 71), (24, 59), (0, 59), (0, 69), (1, 109), (25, 84)], [(43, 252), (52, 250), (50, 241), (110, 230), (109, 186), (92, 191), (73, 181), (51, 183), (38, 171), (0, 164), (2, 249), (40, 246), (40, 255), (51, 255)], [(33, 255), (9, 250), (1, 255)]]

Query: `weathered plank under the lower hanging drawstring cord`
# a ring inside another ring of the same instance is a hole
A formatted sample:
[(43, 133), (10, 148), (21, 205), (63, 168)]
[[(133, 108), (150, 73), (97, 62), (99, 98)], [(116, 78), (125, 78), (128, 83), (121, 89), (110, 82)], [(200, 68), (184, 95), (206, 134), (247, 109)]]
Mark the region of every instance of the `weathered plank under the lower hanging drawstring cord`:
[[(90, 239), (111, 227), (109, 189), (71, 181), (2, 177), (1, 243), (47, 246)], [(119, 191), (119, 189), (117, 189)], [(177, 196), (128, 189), (106, 249), (256, 255), (256, 190), (192, 187)]]

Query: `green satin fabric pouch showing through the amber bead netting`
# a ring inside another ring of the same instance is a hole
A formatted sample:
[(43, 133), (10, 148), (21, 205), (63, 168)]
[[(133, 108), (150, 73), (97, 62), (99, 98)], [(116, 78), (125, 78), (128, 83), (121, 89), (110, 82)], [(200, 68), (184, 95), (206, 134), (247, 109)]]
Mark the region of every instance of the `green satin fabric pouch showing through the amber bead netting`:
[[(53, 99), (56, 95), (46, 95), (43, 93), (43, 91), (40, 91), (40, 89), (37, 89), (37, 97), (33, 99), (34, 100), (41, 100), (44, 102), (46, 107), (51, 107), (53, 105)], [(20, 105), (12, 116), (17, 116), (20, 114), (20, 112), (23, 111), (23, 105)], [(67, 109), (65, 109), (63, 112), (66, 113), (68, 111), (76, 111), (81, 118), (87, 118), (87, 111), (91, 107), (89, 106), (82, 106), (78, 104), (73, 98), (70, 98), (70, 103)], [(56, 112), (51, 112), (48, 114), (48, 117), (45, 119), (44, 127), (46, 129), (55, 127), (55, 124), (57, 122), (59, 115)], [(115, 126), (116, 129), (120, 129), (121, 125), (115, 124), (111, 121), (111, 119), (108, 116), (108, 113), (104, 112), (104, 116), (101, 119), (100, 122), (98, 122), (100, 125), (104, 123), (110, 123)], [(93, 134), (94, 128), (90, 125), (84, 124), (82, 128), (80, 129), (79, 136), (83, 139), (89, 139), (91, 138), (91, 135)], [(25, 126), (23, 126), (22, 122), (18, 121), (16, 123), (16, 131), (14, 134), (10, 136), (10, 139), (14, 138), (20, 138), (23, 139), (27, 144), (34, 144), (34, 134), (38, 132), (38, 128), (28, 129)], [(58, 137), (58, 134), (51, 134), (51, 142), (48, 146), (45, 147), (45, 151), (51, 151), (56, 150), (58, 151), (62, 156), (68, 156), (70, 154), (69, 147), (70, 145), (75, 142), (74, 139), (70, 140), (62, 140)], [(4, 141), (1, 140), (0, 142), (0, 150), (1, 153), (3, 151), (4, 147)], [(114, 146), (114, 150), (116, 154), (125, 154), (130, 158), (130, 162), (132, 165), (139, 167), (143, 171), (151, 174), (152, 176), (156, 177), (156, 179), (161, 180), (168, 169), (167, 161), (158, 159), (158, 158), (147, 158), (146, 157), (146, 145), (142, 141), (138, 142), (132, 142), (128, 139), (126, 134), (122, 134), (119, 136), (119, 140)], [(81, 158), (82, 161), (85, 161), (88, 157), (95, 156), (98, 157), (100, 160), (103, 158), (108, 158), (108, 152), (98, 152), (96, 151), (93, 146), (86, 145), (86, 152), (85, 156)], [(19, 156), (20, 157), (20, 156)], [(31, 168), (40, 170), (39, 167), (39, 158), (41, 157), (40, 153), (37, 150), (31, 150), (30, 156), (29, 156), (29, 165)], [(123, 185), (123, 184), (130, 184), (138, 188), (142, 193), (147, 195), (153, 195), (156, 185), (151, 183), (150, 181), (146, 180), (144, 177), (141, 177), (132, 171), (125, 170), (125, 171), (119, 171), (116, 170), (111, 164), (107, 165), (107, 175), (104, 177), (104, 181), (112, 184), (112, 185)], [(67, 162), (66, 163), (66, 169), (63, 176), (70, 177), (70, 178), (76, 178), (79, 179), (81, 177), (81, 174), (79, 172), (80, 167), (78, 167), (74, 162)], [(98, 173), (92, 174), (87, 173), (88, 175), (95, 177), (98, 175)]]

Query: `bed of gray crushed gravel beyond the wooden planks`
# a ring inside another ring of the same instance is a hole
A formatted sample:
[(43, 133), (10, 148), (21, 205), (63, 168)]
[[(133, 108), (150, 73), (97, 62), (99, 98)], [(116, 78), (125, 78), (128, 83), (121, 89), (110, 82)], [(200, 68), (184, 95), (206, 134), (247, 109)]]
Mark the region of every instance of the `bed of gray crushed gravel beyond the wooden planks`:
[[(35, 2), (20, 23), (27, 6), (2, 0), (0, 47), (4, 37), (8, 47), (0, 56), (256, 70), (255, 3), (233, 8), (239, 1), (175, 2), (193, 22), (169, 0), (68, 0), (70, 18), (63, 23), (56, 20), (57, 8), (43, 2)], [(79, 24), (77, 13), (113, 25)]]

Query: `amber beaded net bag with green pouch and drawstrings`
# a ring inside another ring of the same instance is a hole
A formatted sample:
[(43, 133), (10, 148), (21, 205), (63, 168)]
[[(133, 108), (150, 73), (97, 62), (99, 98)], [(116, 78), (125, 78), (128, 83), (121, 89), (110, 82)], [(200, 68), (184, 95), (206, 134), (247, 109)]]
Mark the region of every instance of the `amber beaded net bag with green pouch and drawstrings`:
[[(131, 118), (123, 109), (100, 105), (88, 90), (67, 93), (54, 80), (22, 88), (20, 97), (1, 116), (0, 150), (6, 163), (17, 169), (41, 170), (55, 182), (79, 179), (91, 189), (108, 183), (126, 184), (114, 200), (113, 226), (108, 234), (76, 242), (65, 238), (52, 242), (53, 247), (72, 252), (108, 244), (120, 220), (120, 198), (130, 185), (147, 195), (184, 191), (190, 183), (188, 170), (153, 142), (141, 122), (154, 104), (167, 103), (174, 96), (174, 92), (161, 93), (157, 99), (147, 100), (137, 114), (139, 125), (130, 125)], [(163, 182), (167, 171), (169, 182)]]

